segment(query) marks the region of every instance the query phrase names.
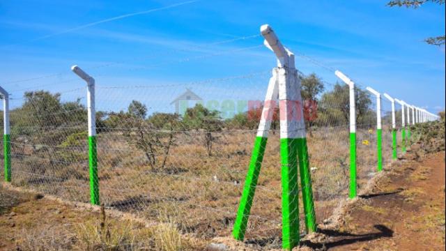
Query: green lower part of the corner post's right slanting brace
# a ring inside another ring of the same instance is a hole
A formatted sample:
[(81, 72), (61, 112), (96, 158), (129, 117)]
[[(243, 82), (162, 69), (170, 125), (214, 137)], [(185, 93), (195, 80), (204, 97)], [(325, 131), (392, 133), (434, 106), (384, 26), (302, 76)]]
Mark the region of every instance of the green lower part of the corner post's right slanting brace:
[(298, 144), (298, 159), (300, 170), (300, 187), (302, 188), (302, 201), (304, 204), (305, 227), (307, 232), (316, 231), (316, 213), (314, 211), (314, 199), (312, 189), (312, 176), (309, 169), (309, 157), (307, 139), (295, 139)]

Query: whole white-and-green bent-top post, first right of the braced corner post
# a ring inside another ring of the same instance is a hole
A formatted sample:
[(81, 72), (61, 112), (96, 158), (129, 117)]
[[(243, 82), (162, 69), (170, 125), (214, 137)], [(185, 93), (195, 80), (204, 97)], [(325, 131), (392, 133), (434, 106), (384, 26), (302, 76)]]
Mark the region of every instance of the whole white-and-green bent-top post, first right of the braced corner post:
[(350, 198), (357, 195), (356, 190), (356, 108), (355, 108), (355, 83), (339, 70), (334, 72), (344, 83), (348, 85), (350, 96)]

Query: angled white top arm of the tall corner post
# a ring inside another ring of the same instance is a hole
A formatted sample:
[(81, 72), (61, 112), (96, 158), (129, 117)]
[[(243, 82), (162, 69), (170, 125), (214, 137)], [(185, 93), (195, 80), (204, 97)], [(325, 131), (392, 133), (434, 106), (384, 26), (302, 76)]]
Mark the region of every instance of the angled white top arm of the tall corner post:
[(294, 66), (294, 54), (288, 50), (282, 43), (280, 43), (279, 38), (277, 38), (276, 33), (272, 30), (269, 24), (263, 24), (260, 27), (260, 33), (265, 38), (263, 44), (272, 50), (277, 57), (277, 65), (279, 67), (289, 67), (295, 68)]

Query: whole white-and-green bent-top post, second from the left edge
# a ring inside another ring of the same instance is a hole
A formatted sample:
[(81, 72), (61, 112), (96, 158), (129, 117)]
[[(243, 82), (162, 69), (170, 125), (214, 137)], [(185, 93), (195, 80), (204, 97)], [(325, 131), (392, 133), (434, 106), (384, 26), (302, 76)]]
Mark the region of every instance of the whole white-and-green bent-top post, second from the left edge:
[(89, 116), (89, 175), (90, 201), (99, 205), (98, 153), (96, 149), (96, 118), (95, 118), (95, 79), (86, 74), (79, 66), (72, 66), (71, 70), (85, 80), (87, 84), (86, 107)]

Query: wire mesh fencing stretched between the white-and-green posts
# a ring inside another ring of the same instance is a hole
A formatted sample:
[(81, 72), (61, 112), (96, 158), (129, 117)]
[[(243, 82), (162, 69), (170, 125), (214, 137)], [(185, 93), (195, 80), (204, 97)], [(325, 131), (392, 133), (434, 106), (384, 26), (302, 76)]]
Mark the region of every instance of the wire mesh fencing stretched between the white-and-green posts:
[[(270, 75), (268, 70), (179, 84), (111, 83), (103, 75), (93, 75), (101, 204), (154, 222), (174, 219), (185, 233), (200, 238), (229, 236)], [(299, 77), (316, 220), (321, 224), (348, 197), (348, 86), (325, 82), (316, 74)], [(85, 85), (80, 79), (68, 81)], [(26, 91), (23, 98), (10, 100), (13, 185), (88, 203), (86, 87), (56, 92), (41, 87), (46, 86), (20, 89)], [(376, 98), (360, 85), (356, 97), (361, 191), (376, 174)], [(246, 238), (278, 247), (281, 128), (278, 108), (273, 110)], [(386, 165), (392, 160), (390, 103), (383, 100), (381, 110)], [(401, 128), (401, 111), (396, 121)], [(298, 172), (293, 175), (298, 182), (291, 190), (302, 190)], [(300, 201), (300, 212), (302, 205)], [(304, 225), (300, 213), (300, 226)]]

